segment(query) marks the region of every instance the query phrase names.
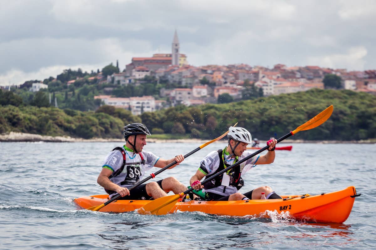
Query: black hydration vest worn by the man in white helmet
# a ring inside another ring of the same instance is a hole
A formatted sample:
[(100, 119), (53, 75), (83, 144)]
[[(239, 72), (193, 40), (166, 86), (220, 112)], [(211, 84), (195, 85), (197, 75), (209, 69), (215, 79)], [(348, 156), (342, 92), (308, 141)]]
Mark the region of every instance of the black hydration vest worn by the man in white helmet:
[[(219, 160), (219, 167), (210, 176), (206, 175), (205, 179), (211, 177), (214, 174), (217, 174), (218, 172), (220, 172), (224, 169), (224, 163), (223, 163), (223, 159), (222, 159), (223, 149), (220, 149), (217, 152), (218, 152), (218, 156), (219, 156), (219, 159), (220, 159)], [(229, 166), (230, 165), (226, 164), (226, 167), (229, 167)], [(211, 181), (208, 181), (207, 183), (205, 183), (204, 184), (205, 190), (209, 190), (209, 189), (212, 189), (214, 187), (222, 186), (222, 178), (223, 178), (224, 174), (227, 174), (227, 173), (224, 172), (223, 174), (218, 175), (217, 177), (213, 178)], [(230, 186), (234, 186), (238, 190), (241, 189), (241, 187), (244, 186), (244, 180), (240, 177), (240, 175), (241, 175), (240, 165), (236, 166), (235, 168), (230, 169), (229, 175), (232, 177), (232, 182), (229, 183)], [(226, 187), (224, 187), (224, 189), (223, 189), (223, 192), (225, 192), (225, 191), (226, 191)]]

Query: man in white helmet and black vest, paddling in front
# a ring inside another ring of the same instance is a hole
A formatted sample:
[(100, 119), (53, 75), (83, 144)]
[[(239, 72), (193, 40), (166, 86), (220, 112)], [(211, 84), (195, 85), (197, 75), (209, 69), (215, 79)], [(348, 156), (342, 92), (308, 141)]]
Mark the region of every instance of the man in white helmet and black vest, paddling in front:
[[(247, 145), (252, 143), (251, 134), (242, 127), (230, 127), (227, 134), (229, 143), (227, 147), (218, 151), (212, 151), (201, 162), (196, 174), (190, 179), (191, 187), (198, 190), (204, 189), (200, 180), (203, 177), (209, 178), (241, 159), (249, 156)], [(260, 156), (259, 154), (248, 159), (246, 162), (230, 169), (217, 178), (205, 183), (206, 201), (237, 201), (245, 199), (260, 199), (261, 192), (265, 192), (266, 199), (281, 199), (271, 187), (264, 186), (253, 189), (250, 192), (241, 194), (238, 190), (244, 186), (244, 180), (241, 175), (249, 171), (256, 165), (270, 164), (274, 162), (277, 140), (272, 139), (267, 142), (268, 153)]]

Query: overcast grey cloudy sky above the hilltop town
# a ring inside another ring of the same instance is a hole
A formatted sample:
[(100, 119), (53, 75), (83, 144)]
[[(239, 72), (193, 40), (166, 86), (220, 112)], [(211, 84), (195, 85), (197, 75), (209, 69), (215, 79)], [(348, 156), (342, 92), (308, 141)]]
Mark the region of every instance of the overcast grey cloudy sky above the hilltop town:
[(376, 69), (373, 0), (0, 0), (0, 85), (171, 51), (194, 66)]

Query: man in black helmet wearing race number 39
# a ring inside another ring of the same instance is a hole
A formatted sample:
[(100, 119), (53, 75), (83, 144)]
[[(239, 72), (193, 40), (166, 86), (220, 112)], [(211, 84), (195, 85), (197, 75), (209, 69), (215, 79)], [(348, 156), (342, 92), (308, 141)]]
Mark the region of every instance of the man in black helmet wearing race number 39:
[[(158, 199), (167, 196), (172, 191), (182, 193), (186, 186), (174, 177), (168, 177), (157, 182), (141, 184), (129, 192), (128, 188), (141, 181), (145, 171), (153, 168), (163, 168), (176, 161), (179, 165), (184, 156), (179, 154), (170, 160), (161, 159), (153, 153), (143, 151), (149, 130), (141, 123), (132, 123), (124, 127), (126, 144), (114, 148), (105, 158), (97, 183), (104, 187), (109, 198), (119, 194), (122, 199), (145, 200)], [(176, 165), (171, 166), (174, 168)], [(169, 168), (169, 169), (170, 169)]]

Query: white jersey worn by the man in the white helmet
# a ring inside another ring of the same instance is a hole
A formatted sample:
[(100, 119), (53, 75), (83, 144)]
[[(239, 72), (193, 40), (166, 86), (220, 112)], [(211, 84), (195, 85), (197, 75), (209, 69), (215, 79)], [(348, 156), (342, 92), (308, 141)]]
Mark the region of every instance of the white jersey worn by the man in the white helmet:
[[(249, 156), (253, 152), (244, 151), (243, 154), (238, 157), (238, 161), (243, 160), (245, 157)], [(254, 166), (256, 166), (257, 160), (259, 159), (260, 155), (257, 154), (256, 156), (251, 157), (250, 159), (246, 160), (245, 162), (240, 164), (240, 172), (241, 175), (252, 169)], [(211, 175), (215, 174), (217, 172), (217, 169), (219, 167), (220, 161), (222, 159), (218, 156), (218, 151), (212, 151), (210, 152), (201, 162), (200, 162), (200, 168), (199, 170), (203, 172), (207, 177), (210, 177)], [(229, 160), (225, 159), (227, 165), (234, 164), (235, 158), (231, 158)], [(235, 162), (236, 163), (236, 162)], [(212, 179), (214, 183), (214, 179)], [(205, 187), (205, 183), (203, 184)], [(226, 186), (226, 189), (224, 189), (225, 186), (221, 185), (219, 187), (214, 187), (212, 189), (203, 189), (204, 192), (211, 192), (216, 193), (218, 195), (232, 195), (233, 193), (237, 193), (238, 190), (236, 187), (230, 185)], [(225, 192), (223, 192), (225, 190)]]

